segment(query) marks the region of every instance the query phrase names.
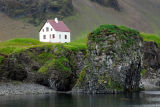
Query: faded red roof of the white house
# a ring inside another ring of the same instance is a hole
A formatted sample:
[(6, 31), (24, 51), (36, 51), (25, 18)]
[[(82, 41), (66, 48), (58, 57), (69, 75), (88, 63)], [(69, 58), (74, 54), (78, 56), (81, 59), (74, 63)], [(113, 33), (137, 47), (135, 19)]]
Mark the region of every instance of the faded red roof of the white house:
[(47, 20), (48, 23), (54, 28), (55, 31), (70, 32), (69, 28), (63, 23), (63, 21), (55, 22), (55, 20)]

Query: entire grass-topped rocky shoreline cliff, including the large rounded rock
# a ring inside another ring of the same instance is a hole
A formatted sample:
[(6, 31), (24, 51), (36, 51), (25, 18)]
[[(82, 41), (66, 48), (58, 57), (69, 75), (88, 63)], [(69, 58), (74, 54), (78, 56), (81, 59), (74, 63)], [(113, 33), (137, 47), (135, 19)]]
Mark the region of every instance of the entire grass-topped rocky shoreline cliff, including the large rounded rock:
[(141, 78), (143, 86), (143, 81), (154, 80), (159, 87), (159, 40), (124, 26), (102, 25), (88, 35), (87, 43), (0, 42), (0, 81), (83, 93), (139, 91)]

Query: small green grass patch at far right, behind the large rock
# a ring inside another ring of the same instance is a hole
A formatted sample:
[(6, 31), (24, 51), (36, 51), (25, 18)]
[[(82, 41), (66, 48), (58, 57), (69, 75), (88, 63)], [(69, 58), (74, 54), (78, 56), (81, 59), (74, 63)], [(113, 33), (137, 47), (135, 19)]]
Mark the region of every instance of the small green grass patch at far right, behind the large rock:
[(141, 37), (143, 37), (144, 41), (153, 41), (158, 44), (160, 47), (160, 36), (155, 34), (141, 33)]

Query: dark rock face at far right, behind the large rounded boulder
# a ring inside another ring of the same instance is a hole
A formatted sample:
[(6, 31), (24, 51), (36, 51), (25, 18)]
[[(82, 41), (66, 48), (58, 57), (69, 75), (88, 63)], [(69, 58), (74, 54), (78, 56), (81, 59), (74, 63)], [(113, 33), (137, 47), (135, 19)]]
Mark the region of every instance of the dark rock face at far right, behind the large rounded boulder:
[(144, 43), (142, 85), (146, 90), (160, 88), (160, 48), (155, 42)]

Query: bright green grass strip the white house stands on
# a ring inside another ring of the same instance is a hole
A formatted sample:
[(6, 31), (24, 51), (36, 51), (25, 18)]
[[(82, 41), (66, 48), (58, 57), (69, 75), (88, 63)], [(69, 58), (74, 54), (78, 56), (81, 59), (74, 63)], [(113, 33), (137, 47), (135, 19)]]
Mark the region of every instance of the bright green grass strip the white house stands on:
[(86, 41), (85, 42), (75, 41), (71, 43), (57, 44), (57, 43), (43, 43), (43, 42), (39, 42), (39, 40), (32, 39), (32, 38), (16, 38), (16, 39), (0, 42), (0, 53), (8, 55), (8, 54), (19, 52), (28, 48), (40, 47), (40, 46), (46, 46), (46, 45), (50, 45), (50, 46), (63, 45), (64, 47), (70, 50), (86, 49)]

